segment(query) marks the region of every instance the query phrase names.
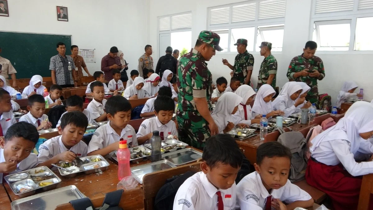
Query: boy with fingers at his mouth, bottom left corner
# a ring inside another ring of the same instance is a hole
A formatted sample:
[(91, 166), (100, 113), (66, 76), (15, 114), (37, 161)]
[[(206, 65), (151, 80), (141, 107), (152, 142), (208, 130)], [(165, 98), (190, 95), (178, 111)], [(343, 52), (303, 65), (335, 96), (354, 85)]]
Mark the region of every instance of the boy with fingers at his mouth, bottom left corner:
[(39, 133), (30, 123), (18, 122), (9, 127), (4, 138), (0, 138), (0, 183), (6, 174), (36, 166), (38, 158), (32, 149), (38, 140)]

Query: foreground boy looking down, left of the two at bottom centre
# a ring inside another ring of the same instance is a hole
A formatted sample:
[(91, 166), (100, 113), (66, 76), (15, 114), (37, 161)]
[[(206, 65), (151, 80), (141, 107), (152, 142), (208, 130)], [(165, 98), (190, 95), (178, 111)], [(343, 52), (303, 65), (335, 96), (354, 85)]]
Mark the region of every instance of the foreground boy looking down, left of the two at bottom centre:
[(195, 173), (180, 186), (173, 210), (235, 209), (235, 179), (242, 159), (242, 152), (231, 136), (211, 136), (203, 149), (202, 172)]

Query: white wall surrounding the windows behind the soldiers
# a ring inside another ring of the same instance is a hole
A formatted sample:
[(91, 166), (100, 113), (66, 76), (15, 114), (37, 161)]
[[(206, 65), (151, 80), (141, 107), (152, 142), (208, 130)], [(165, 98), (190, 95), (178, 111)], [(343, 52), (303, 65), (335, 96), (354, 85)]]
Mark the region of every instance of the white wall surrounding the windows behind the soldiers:
[[(157, 17), (175, 13), (192, 11), (192, 45), (195, 43), (200, 31), (207, 30), (207, 8), (227, 3), (236, 3), (243, 0), (189, 0), (185, 4), (173, 0), (148, 0), (150, 1), (150, 33), (149, 44), (153, 46), (154, 62), (157, 62), (159, 50), (157, 42)], [(303, 47), (310, 37), (311, 23), (311, 0), (287, 0), (285, 15), (285, 30), (282, 52), (273, 52), (278, 61), (278, 73), (276, 86), (280, 88), (288, 81), (286, 72), (291, 59), (303, 52)], [(213, 80), (224, 76), (229, 78), (229, 68), (221, 62), (222, 58), (228, 59), (233, 65), (237, 53), (216, 53), (208, 62), (209, 70), (213, 74)], [(336, 96), (344, 81), (354, 80), (359, 87), (364, 88), (364, 99), (372, 100), (373, 85), (363, 78), (373, 78), (373, 68), (370, 62), (373, 53), (351, 53), (351, 52), (320, 52), (316, 55), (323, 59), (325, 65), (325, 78), (319, 81), (319, 93), (328, 93), (335, 103)], [(257, 83), (257, 76), (263, 56), (253, 52), (255, 63), (253, 76), (254, 84)], [(356, 91), (358, 92), (358, 90)]]

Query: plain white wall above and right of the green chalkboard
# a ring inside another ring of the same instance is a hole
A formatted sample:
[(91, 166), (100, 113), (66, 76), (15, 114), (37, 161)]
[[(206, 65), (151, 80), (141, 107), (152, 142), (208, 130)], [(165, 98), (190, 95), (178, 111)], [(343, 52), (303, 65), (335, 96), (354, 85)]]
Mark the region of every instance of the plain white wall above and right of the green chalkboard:
[[(101, 70), (101, 58), (112, 46), (123, 51), (128, 74), (137, 69), (138, 58), (144, 53), (148, 39), (146, 0), (10, 0), (8, 4), (10, 16), (0, 17), (1, 31), (72, 35), (72, 44), (80, 49), (95, 49), (96, 63), (87, 63), (91, 74)], [(68, 7), (69, 22), (57, 21), (56, 6)], [(50, 47), (55, 49), (56, 44)], [(66, 54), (71, 54), (70, 49)], [(26, 71), (16, 70), (18, 74)]]

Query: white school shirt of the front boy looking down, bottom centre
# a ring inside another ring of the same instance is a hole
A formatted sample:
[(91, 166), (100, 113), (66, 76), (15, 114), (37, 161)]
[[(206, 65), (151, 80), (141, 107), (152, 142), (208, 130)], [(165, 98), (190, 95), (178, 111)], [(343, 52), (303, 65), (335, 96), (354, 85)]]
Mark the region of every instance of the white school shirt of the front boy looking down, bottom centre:
[[(179, 187), (173, 200), (173, 210), (218, 210), (217, 191), (218, 189), (209, 182), (206, 174), (197, 172)], [(229, 189), (219, 189), (219, 191), (223, 198), (224, 210), (235, 209), (236, 183)]]

